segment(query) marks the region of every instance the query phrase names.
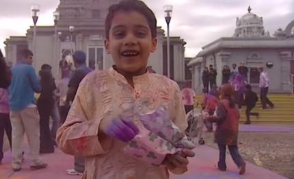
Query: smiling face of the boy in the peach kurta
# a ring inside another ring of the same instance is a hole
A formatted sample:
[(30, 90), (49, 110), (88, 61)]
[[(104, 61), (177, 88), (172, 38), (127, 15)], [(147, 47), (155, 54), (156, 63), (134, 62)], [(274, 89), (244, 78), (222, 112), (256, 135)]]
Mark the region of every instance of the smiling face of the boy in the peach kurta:
[(105, 40), (116, 68), (125, 73), (146, 70), (150, 52), (155, 51), (157, 38), (152, 38), (147, 19), (136, 11), (119, 11), (114, 14)]

